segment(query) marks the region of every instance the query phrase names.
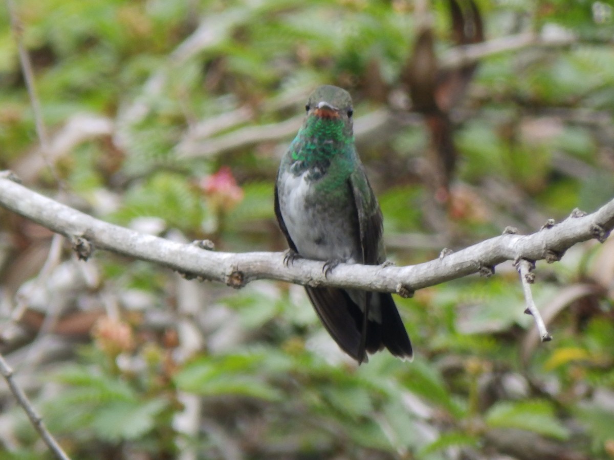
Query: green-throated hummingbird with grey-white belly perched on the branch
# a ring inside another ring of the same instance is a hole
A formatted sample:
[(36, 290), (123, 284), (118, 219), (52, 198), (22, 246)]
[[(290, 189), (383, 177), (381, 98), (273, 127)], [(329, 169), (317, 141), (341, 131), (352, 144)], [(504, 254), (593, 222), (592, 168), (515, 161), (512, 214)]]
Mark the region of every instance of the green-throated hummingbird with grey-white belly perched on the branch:
[[(339, 263), (383, 264), (383, 217), (354, 145), (351, 96), (337, 86), (320, 86), (305, 110), (275, 185), (275, 215), (290, 247), (286, 264), (297, 257), (324, 261), (325, 274)], [(412, 358), (391, 294), (305, 289), (328, 333), (359, 364), (384, 347)]]

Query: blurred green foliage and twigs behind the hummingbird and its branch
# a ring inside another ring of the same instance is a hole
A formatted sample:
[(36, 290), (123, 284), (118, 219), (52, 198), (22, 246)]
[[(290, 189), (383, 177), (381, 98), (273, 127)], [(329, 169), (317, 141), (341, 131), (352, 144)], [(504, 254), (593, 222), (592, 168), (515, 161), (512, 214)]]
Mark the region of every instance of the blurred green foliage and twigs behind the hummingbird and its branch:
[[(105, 221), (224, 251), (284, 250), (274, 179), (324, 83), (354, 98), (397, 264), (614, 196), (609, 1), (476, 1), (500, 50), (446, 111), (456, 169), (443, 203), (405, 71), (426, 19), (440, 67), (450, 62), (448, 1), (13, 7), (49, 147), (42, 155), (2, 4), (0, 169)], [(543, 41), (517, 45), (531, 33)], [(300, 286), (235, 291), (102, 251), (77, 261), (0, 209), (0, 350), (74, 459), (614, 458), (613, 261), (610, 238), (537, 264), (552, 342), (532, 335), (508, 262), (395, 297), (416, 358), (379, 353), (357, 367)], [(0, 391), (0, 458), (50, 458)]]

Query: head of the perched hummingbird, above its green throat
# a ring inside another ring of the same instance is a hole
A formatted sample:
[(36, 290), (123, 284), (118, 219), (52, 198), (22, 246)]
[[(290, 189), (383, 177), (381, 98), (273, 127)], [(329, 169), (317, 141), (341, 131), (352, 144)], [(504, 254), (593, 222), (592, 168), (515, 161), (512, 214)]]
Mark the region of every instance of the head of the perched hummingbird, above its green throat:
[(307, 122), (310, 119), (319, 119), (322, 121), (334, 121), (335, 124), (340, 121), (343, 123), (343, 131), (346, 134), (352, 134), (352, 98), (348, 91), (339, 88), (338, 86), (323, 85), (316, 88), (309, 95), (307, 104)]

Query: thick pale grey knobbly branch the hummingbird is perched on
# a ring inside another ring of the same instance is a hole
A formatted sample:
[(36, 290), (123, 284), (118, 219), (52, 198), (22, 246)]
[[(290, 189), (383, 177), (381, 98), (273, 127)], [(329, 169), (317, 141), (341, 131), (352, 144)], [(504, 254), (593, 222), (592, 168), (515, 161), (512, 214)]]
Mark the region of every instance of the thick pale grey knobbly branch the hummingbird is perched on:
[(565, 221), (549, 222), (534, 234), (505, 233), (413, 266), (340, 264), (326, 277), (319, 261), (298, 259), (285, 266), (283, 253), (207, 251), (195, 244), (176, 243), (109, 224), (28, 190), (12, 178), (9, 172), (0, 173), (0, 205), (68, 237), (82, 258), (89, 256), (93, 245), (235, 288), (253, 280), (270, 279), (409, 296), (416, 289), (492, 271), (506, 260), (546, 259), (551, 263), (576, 243), (593, 238), (603, 242), (614, 228), (612, 199), (592, 214), (573, 212)]

